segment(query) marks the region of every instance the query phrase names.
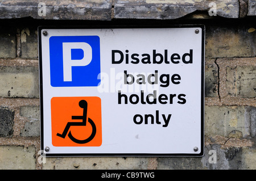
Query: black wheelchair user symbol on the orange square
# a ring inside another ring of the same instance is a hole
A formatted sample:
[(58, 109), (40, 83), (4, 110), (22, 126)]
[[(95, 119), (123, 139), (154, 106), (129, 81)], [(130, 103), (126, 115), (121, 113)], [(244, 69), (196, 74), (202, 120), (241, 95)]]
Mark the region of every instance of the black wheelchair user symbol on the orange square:
[[(88, 103), (86, 102), (86, 100), (80, 100), (79, 107), (84, 109), (82, 116), (72, 116), (72, 120), (81, 119), (82, 122), (68, 122), (64, 131), (63, 131), (63, 133), (62, 134), (57, 133), (57, 136), (59, 136), (61, 138), (65, 138), (68, 131), (69, 131), (69, 128), (71, 126), (86, 126), (87, 107), (88, 107)], [(91, 141), (94, 138), (95, 134), (96, 134), (96, 125), (94, 124), (93, 120), (91, 120), (89, 117), (88, 117), (88, 122), (92, 125), (92, 134), (90, 134), (90, 136), (88, 138), (86, 138), (85, 140), (78, 140), (78, 139), (76, 139), (75, 137), (72, 136), (71, 131), (69, 131), (68, 137), (73, 142), (76, 142), (77, 144), (85, 144), (85, 143)]]

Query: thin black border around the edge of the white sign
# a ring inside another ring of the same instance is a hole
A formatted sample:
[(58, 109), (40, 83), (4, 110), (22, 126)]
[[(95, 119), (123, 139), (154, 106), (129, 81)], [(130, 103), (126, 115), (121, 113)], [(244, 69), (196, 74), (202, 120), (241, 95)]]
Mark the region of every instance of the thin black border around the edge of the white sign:
[[(45, 153), (43, 132), (43, 74), (42, 74), (42, 30), (43, 29), (139, 29), (139, 28), (201, 28), (201, 152), (200, 153)], [(203, 157), (204, 155), (204, 68), (205, 68), (205, 26), (203, 24), (183, 24), (168, 26), (39, 26), (38, 27), (39, 57), (39, 95), (40, 95), (40, 149), (45, 157)]]

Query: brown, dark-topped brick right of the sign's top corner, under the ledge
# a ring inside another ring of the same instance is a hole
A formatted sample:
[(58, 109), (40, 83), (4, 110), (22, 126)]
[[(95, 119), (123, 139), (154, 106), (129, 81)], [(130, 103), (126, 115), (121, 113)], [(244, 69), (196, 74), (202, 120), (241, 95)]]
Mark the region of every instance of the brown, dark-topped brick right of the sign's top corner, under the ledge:
[(248, 32), (247, 27), (249, 25), (207, 26), (205, 57), (255, 57), (256, 33)]

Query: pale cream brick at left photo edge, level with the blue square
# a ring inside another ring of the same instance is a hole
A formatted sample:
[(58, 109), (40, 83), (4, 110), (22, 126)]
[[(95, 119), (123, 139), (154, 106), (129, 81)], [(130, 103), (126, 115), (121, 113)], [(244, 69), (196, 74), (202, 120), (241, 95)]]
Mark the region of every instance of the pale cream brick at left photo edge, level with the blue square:
[(38, 68), (34, 66), (0, 67), (0, 96), (38, 98)]

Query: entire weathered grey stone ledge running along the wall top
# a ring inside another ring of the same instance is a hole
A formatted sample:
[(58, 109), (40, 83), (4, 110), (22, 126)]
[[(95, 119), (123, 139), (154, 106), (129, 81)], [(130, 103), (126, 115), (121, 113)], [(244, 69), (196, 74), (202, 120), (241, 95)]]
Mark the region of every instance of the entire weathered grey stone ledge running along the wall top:
[(196, 19), (244, 18), (256, 15), (256, 0), (6, 0), (0, 3), (0, 19), (177, 19), (195, 11), (208, 12), (207, 16), (196, 16)]

